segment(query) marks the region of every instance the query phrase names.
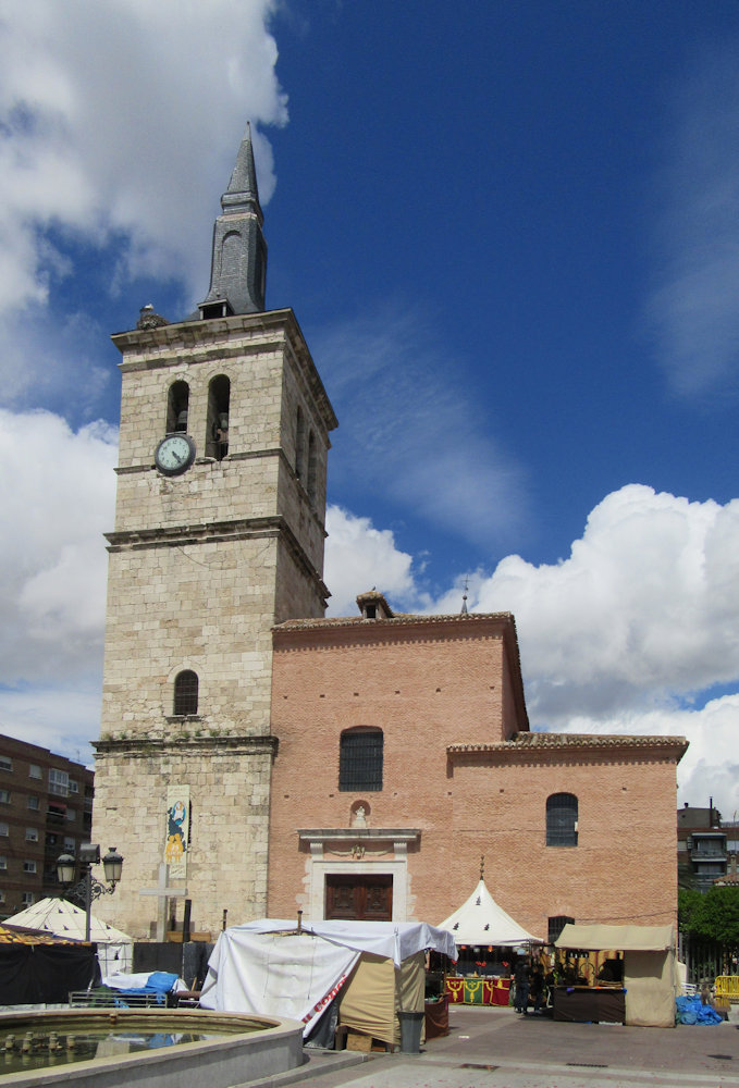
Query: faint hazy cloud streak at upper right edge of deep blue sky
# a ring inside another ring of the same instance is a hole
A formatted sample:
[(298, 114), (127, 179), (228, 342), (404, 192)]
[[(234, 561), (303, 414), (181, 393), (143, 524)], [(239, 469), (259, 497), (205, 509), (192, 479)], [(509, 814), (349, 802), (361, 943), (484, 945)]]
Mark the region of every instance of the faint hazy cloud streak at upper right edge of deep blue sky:
[(730, 384), (739, 362), (739, 65), (704, 53), (672, 103), (648, 306), (675, 390)]

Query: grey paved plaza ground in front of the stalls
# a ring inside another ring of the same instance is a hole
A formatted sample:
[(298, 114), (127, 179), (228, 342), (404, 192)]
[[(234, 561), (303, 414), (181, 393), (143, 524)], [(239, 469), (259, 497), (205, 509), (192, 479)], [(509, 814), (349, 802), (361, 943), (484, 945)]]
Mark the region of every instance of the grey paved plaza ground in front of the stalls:
[[(311, 1056), (263, 1081), (306, 1088), (739, 1088), (739, 1027), (554, 1023), (512, 1009), (449, 1009), (449, 1035), (420, 1054)], [(336, 1065), (342, 1064), (342, 1068)]]

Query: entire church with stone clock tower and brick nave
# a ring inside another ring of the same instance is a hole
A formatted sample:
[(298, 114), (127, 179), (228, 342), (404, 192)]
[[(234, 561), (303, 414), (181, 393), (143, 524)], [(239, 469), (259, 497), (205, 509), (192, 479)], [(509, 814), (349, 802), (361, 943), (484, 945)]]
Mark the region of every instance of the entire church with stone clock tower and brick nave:
[(204, 301), (113, 336), (93, 838), (125, 866), (98, 913), (139, 940), (185, 897), (213, 939), (298, 911), (438, 924), (484, 855), (543, 939), (673, 923), (682, 738), (531, 732), (508, 613), (396, 614), (370, 591), (325, 618), (337, 421), (295, 314), (266, 309), (262, 227), (247, 126)]

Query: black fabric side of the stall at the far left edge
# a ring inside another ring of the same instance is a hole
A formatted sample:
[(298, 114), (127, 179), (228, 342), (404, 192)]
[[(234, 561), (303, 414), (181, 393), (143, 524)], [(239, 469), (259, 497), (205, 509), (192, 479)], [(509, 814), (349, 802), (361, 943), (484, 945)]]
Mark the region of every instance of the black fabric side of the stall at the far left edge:
[(100, 981), (97, 944), (0, 944), (0, 1005), (66, 1002)]

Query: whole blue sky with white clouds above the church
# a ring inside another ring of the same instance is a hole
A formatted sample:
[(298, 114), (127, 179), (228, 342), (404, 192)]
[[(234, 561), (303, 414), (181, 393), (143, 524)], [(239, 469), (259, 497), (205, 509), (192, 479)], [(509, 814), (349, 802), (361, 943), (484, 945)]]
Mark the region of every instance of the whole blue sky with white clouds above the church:
[(467, 578), (535, 728), (683, 733), (739, 809), (738, 61), (720, 0), (0, 0), (0, 731), (87, 758), (109, 334), (205, 296), (251, 119), (333, 609)]

